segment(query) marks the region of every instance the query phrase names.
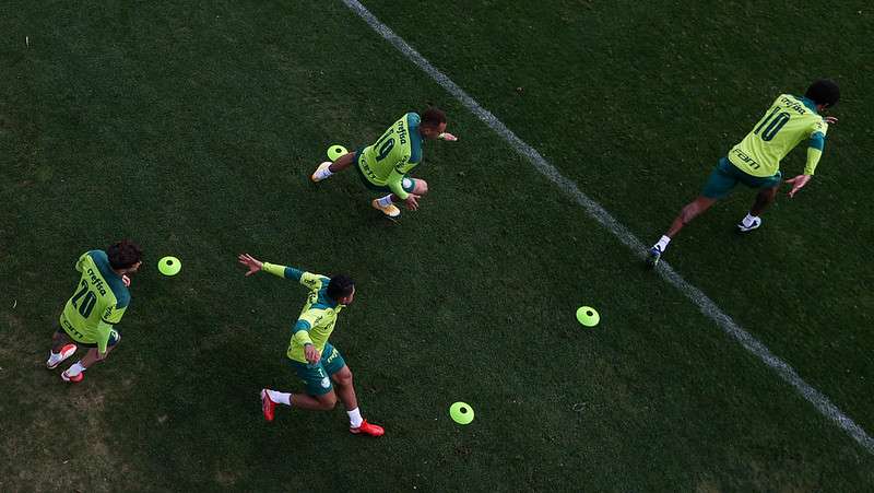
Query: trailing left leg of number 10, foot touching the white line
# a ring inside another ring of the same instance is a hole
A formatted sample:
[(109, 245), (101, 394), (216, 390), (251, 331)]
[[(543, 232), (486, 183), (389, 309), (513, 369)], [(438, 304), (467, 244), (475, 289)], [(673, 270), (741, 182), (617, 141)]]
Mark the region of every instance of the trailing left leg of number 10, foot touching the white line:
[(732, 188), (737, 185), (739, 177), (736, 173), (736, 167), (731, 164), (728, 159), (723, 157), (719, 161), (717, 167), (707, 178), (701, 193), (681, 209), (680, 214), (677, 214), (671, 223), (671, 227), (668, 228), (668, 232), (665, 232), (656, 245), (647, 251), (648, 265), (654, 267), (659, 263), (671, 239), (680, 234), (680, 231), (683, 230), (686, 224), (710, 209), (717, 200), (725, 197)]

